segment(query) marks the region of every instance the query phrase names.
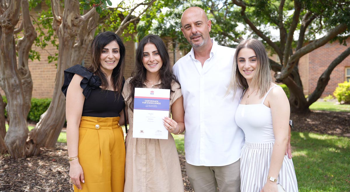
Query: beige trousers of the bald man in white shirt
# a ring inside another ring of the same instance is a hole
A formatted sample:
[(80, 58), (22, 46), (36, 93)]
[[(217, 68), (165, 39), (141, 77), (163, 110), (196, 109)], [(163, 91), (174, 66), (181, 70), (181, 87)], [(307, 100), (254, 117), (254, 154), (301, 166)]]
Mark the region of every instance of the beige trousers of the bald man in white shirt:
[(186, 173), (195, 192), (240, 192), (239, 160), (225, 166), (195, 166), (186, 162)]

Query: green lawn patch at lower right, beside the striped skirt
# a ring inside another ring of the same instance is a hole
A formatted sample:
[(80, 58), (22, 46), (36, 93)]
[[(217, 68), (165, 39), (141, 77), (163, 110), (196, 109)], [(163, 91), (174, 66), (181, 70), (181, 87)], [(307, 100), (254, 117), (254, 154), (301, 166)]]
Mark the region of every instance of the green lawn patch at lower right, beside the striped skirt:
[(292, 133), (293, 162), (299, 191), (350, 191), (350, 139)]

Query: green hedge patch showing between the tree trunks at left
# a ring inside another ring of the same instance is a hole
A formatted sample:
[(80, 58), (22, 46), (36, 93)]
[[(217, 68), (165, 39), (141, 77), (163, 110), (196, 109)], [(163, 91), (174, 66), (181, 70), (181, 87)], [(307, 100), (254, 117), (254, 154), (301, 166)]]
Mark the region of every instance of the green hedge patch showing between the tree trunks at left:
[(51, 99), (31, 98), (31, 108), (28, 113), (28, 120), (38, 122), (41, 114), (43, 114), (50, 106)]

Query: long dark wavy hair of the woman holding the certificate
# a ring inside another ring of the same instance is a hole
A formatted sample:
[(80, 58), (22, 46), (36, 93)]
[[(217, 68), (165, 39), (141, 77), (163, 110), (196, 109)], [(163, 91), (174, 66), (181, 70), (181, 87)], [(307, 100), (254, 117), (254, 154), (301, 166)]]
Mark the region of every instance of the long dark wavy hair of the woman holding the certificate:
[(142, 63), (142, 59), (144, 57), (144, 47), (146, 44), (151, 43), (154, 44), (159, 52), (160, 58), (163, 61), (162, 67), (159, 69), (159, 76), (161, 80), (160, 88), (161, 89), (170, 89), (172, 88), (172, 81), (179, 83), (173, 74), (172, 66), (170, 66), (170, 58), (167, 47), (165, 46), (163, 40), (156, 35), (147, 35), (141, 41), (136, 50), (136, 60), (135, 60), (135, 68), (132, 72), (131, 80), (130, 80), (130, 96), (127, 100), (130, 100), (130, 109), (134, 109), (134, 95), (135, 95), (135, 87), (142, 88), (142, 85), (146, 81), (146, 68)]

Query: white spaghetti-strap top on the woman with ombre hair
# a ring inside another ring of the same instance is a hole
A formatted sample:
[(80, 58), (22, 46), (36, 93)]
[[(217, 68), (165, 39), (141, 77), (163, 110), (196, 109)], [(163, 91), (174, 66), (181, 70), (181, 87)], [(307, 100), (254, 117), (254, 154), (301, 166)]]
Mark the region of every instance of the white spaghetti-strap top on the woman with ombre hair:
[[(251, 143), (271, 143), (275, 141), (272, 129), (271, 109), (264, 105), (271, 87), (260, 104), (239, 104), (236, 111), (236, 123), (244, 131), (245, 140)], [(281, 87), (280, 87), (281, 88)]]

